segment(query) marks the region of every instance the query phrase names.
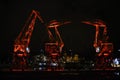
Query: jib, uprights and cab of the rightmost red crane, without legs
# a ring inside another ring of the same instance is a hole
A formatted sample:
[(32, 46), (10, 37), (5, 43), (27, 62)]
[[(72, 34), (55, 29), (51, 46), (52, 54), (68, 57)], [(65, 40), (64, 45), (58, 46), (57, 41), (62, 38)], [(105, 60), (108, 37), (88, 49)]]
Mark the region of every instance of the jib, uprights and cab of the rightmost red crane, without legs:
[[(93, 21), (82, 21), (82, 23), (89, 24), (96, 27), (95, 40), (93, 46), (98, 56), (104, 55), (104, 53), (111, 53), (113, 51), (113, 44), (108, 43), (107, 27), (106, 24), (99, 19)], [(100, 39), (100, 28), (103, 28), (102, 39)]]

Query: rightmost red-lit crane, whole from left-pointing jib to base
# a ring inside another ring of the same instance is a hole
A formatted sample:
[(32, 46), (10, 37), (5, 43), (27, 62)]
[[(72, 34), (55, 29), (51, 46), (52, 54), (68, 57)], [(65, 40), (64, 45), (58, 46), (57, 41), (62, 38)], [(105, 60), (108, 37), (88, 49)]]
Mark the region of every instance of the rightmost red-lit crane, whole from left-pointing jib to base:
[[(111, 53), (113, 52), (113, 43), (108, 42), (107, 27), (106, 24), (99, 19), (92, 21), (82, 21), (82, 23), (89, 24), (96, 27), (94, 48), (97, 53), (97, 64), (104, 66), (107, 58), (111, 58)], [(103, 28), (102, 36), (100, 36), (100, 29)], [(100, 38), (102, 37), (102, 38)]]

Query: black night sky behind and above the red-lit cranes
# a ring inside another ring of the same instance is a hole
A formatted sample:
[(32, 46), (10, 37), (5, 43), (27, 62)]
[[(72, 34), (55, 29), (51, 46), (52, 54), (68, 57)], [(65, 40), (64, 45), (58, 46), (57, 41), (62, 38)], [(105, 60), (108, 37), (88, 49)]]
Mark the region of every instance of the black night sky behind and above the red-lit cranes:
[[(65, 49), (91, 57), (94, 54), (95, 27), (81, 23), (86, 19), (101, 19), (108, 27), (109, 41), (114, 51), (120, 48), (119, 7), (116, 0), (8, 0), (1, 1), (0, 58), (5, 60), (13, 50), (13, 42), (19, 35), (31, 11), (40, 12), (44, 23), (51, 20), (71, 21), (60, 26), (59, 32)], [(39, 51), (47, 39), (46, 28), (37, 23), (31, 38), (30, 48)]]

